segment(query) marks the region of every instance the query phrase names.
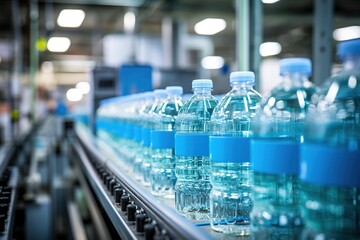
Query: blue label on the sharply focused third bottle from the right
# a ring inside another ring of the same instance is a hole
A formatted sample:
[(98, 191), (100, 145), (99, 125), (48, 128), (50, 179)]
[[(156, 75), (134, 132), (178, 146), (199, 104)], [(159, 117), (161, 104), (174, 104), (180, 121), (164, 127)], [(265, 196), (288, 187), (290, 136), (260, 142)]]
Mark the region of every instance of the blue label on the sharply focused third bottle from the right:
[(210, 136), (212, 162), (250, 162), (250, 139), (232, 136)]

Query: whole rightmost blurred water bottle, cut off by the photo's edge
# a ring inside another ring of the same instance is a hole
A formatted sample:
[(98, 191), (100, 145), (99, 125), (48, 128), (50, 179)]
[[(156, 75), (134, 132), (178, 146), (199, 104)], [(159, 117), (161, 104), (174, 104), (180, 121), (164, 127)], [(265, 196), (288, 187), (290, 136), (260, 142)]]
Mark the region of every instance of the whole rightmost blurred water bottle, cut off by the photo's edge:
[(360, 40), (339, 43), (338, 56), (342, 70), (307, 115), (303, 239), (360, 239)]

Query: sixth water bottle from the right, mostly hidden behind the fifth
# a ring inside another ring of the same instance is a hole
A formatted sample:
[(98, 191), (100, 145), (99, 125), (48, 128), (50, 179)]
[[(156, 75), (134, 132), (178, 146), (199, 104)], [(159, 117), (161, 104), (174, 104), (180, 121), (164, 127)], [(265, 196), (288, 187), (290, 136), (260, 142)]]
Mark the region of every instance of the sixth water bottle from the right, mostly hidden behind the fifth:
[(151, 132), (155, 128), (156, 124), (156, 112), (166, 100), (167, 92), (165, 89), (156, 89), (154, 90), (154, 101), (151, 105), (150, 110), (147, 112), (144, 126), (142, 128), (142, 144), (146, 147), (146, 154), (143, 155), (142, 159), (142, 182), (145, 186), (150, 186), (150, 171), (152, 164), (152, 148), (151, 148)]

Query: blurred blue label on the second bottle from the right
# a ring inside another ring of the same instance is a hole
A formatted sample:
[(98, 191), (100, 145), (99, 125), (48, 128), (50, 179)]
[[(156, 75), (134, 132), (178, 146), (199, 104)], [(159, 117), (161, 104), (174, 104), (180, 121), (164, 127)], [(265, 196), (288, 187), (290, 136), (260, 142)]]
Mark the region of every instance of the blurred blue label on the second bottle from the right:
[(253, 170), (268, 174), (299, 174), (299, 143), (281, 139), (251, 141)]

